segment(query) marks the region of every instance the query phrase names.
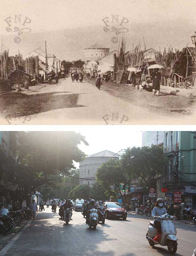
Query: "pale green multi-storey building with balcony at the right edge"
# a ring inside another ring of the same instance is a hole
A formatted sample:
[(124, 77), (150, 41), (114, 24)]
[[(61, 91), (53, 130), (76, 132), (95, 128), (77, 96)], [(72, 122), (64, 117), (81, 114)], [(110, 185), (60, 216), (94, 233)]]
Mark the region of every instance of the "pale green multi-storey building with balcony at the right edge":
[[(165, 131), (164, 152), (167, 157), (162, 185), (172, 194), (181, 193), (181, 200), (196, 208), (196, 139), (190, 131)], [(168, 198), (169, 200), (169, 198)]]

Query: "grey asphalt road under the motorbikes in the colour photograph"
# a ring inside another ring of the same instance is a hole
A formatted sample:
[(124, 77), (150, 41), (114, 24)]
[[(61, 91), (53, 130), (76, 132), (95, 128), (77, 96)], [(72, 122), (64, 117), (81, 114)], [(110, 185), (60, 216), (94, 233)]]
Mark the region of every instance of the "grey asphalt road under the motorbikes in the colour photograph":
[[(167, 247), (149, 246), (145, 238), (149, 218), (128, 214), (126, 221), (106, 220), (93, 230), (86, 226), (80, 212), (73, 212), (73, 221), (65, 225), (58, 213), (47, 208), (20, 235), (6, 256), (141, 256), (170, 255)], [(191, 256), (196, 247), (193, 224), (176, 223), (177, 256)], [(1, 255), (1, 254), (0, 254)]]

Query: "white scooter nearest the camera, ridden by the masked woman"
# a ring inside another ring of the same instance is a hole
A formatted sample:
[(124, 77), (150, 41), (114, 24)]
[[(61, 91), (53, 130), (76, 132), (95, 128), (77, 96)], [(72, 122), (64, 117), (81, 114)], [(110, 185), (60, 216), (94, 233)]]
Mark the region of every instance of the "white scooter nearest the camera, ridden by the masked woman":
[(148, 222), (149, 226), (147, 228), (146, 239), (151, 246), (154, 246), (155, 244), (160, 244), (162, 246), (167, 245), (168, 251), (174, 254), (177, 251), (178, 239), (176, 238), (176, 227), (172, 220), (176, 218), (174, 216), (170, 216), (169, 214), (158, 216), (158, 218), (162, 229), (160, 241), (157, 242), (153, 240), (153, 238), (157, 235), (157, 228), (154, 225), (154, 221)]

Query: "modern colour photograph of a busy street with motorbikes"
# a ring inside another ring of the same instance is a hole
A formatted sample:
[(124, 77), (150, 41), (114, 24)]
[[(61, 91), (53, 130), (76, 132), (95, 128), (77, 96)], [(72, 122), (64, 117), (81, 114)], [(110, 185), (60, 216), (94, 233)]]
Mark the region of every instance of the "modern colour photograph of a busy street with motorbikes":
[(0, 131), (1, 256), (196, 255), (196, 131), (98, 131)]

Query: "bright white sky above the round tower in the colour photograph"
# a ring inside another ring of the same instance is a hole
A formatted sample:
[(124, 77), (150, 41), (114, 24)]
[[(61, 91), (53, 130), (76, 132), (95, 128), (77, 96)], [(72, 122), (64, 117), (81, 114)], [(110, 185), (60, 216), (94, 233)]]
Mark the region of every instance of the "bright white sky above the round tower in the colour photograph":
[[(80, 126), (81, 127), (81, 126)], [(86, 137), (86, 141), (89, 146), (84, 143), (79, 145), (85, 154), (91, 155), (94, 153), (101, 152), (103, 150), (109, 150), (114, 153), (118, 153), (121, 149), (127, 149), (128, 147), (141, 147), (142, 146), (142, 132), (141, 131), (130, 131), (127, 127), (124, 129), (104, 129), (105, 126), (100, 128), (80, 129), (76, 132), (80, 132)], [(75, 163), (78, 168), (79, 163)]]

